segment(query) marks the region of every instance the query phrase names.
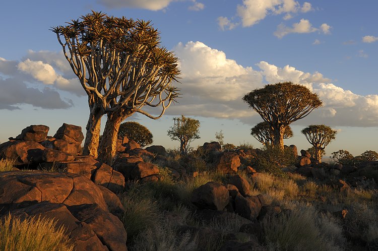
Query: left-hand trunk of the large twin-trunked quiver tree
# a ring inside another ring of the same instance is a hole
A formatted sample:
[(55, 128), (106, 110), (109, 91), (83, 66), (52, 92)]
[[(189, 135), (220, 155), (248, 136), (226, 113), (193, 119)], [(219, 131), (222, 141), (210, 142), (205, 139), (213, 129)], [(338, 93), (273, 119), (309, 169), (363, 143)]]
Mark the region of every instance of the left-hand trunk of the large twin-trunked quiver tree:
[(86, 126), (86, 135), (83, 147), (83, 155), (91, 155), (97, 158), (98, 141), (100, 138), (101, 117), (104, 110), (99, 107), (90, 107), (88, 123)]

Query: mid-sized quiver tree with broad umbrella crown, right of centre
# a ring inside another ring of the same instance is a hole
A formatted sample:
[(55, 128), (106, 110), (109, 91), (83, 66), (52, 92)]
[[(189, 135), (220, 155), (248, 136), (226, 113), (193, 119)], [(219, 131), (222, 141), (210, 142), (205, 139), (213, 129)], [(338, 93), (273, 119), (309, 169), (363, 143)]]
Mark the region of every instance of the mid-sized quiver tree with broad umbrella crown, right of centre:
[(273, 144), (282, 150), (285, 128), (322, 105), (318, 94), (292, 82), (268, 84), (242, 99), (269, 124), (274, 132)]

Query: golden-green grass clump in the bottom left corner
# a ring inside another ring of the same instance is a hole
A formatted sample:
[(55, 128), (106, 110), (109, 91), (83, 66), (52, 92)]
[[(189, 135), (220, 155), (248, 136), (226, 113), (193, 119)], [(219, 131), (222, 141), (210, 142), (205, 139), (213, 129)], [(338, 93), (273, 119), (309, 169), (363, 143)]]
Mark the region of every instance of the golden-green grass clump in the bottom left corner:
[(65, 233), (65, 228), (57, 228), (52, 219), (31, 217), (20, 220), (9, 215), (4, 222), (0, 221), (0, 250), (73, 250)]

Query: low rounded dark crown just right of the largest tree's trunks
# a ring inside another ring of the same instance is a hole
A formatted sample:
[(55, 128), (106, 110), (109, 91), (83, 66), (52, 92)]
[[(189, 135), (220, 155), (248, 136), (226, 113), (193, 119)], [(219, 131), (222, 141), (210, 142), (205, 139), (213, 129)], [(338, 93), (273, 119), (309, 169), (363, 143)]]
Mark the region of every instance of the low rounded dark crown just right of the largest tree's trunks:
[(129, 140), (134, 140), (141, 147), (151, 145), (153, 136), (142, 124), (135, 121), (123, 122), (119, 126), (118, 136), (128, 137)]

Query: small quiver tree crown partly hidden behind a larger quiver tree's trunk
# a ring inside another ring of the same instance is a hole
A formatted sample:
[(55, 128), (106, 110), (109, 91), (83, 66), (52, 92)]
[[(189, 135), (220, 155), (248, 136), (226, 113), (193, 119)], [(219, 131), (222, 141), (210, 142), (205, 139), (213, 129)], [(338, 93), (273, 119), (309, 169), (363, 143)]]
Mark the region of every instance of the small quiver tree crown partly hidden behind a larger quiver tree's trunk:
[[(273, 145), (274, 131), (267, 122), (260, 122), (250, 130), (250, 135), (261, 142), (264, 146)], [(283, 139), (293, 137), (293, 131), (290, 126), (285, 127)]]

